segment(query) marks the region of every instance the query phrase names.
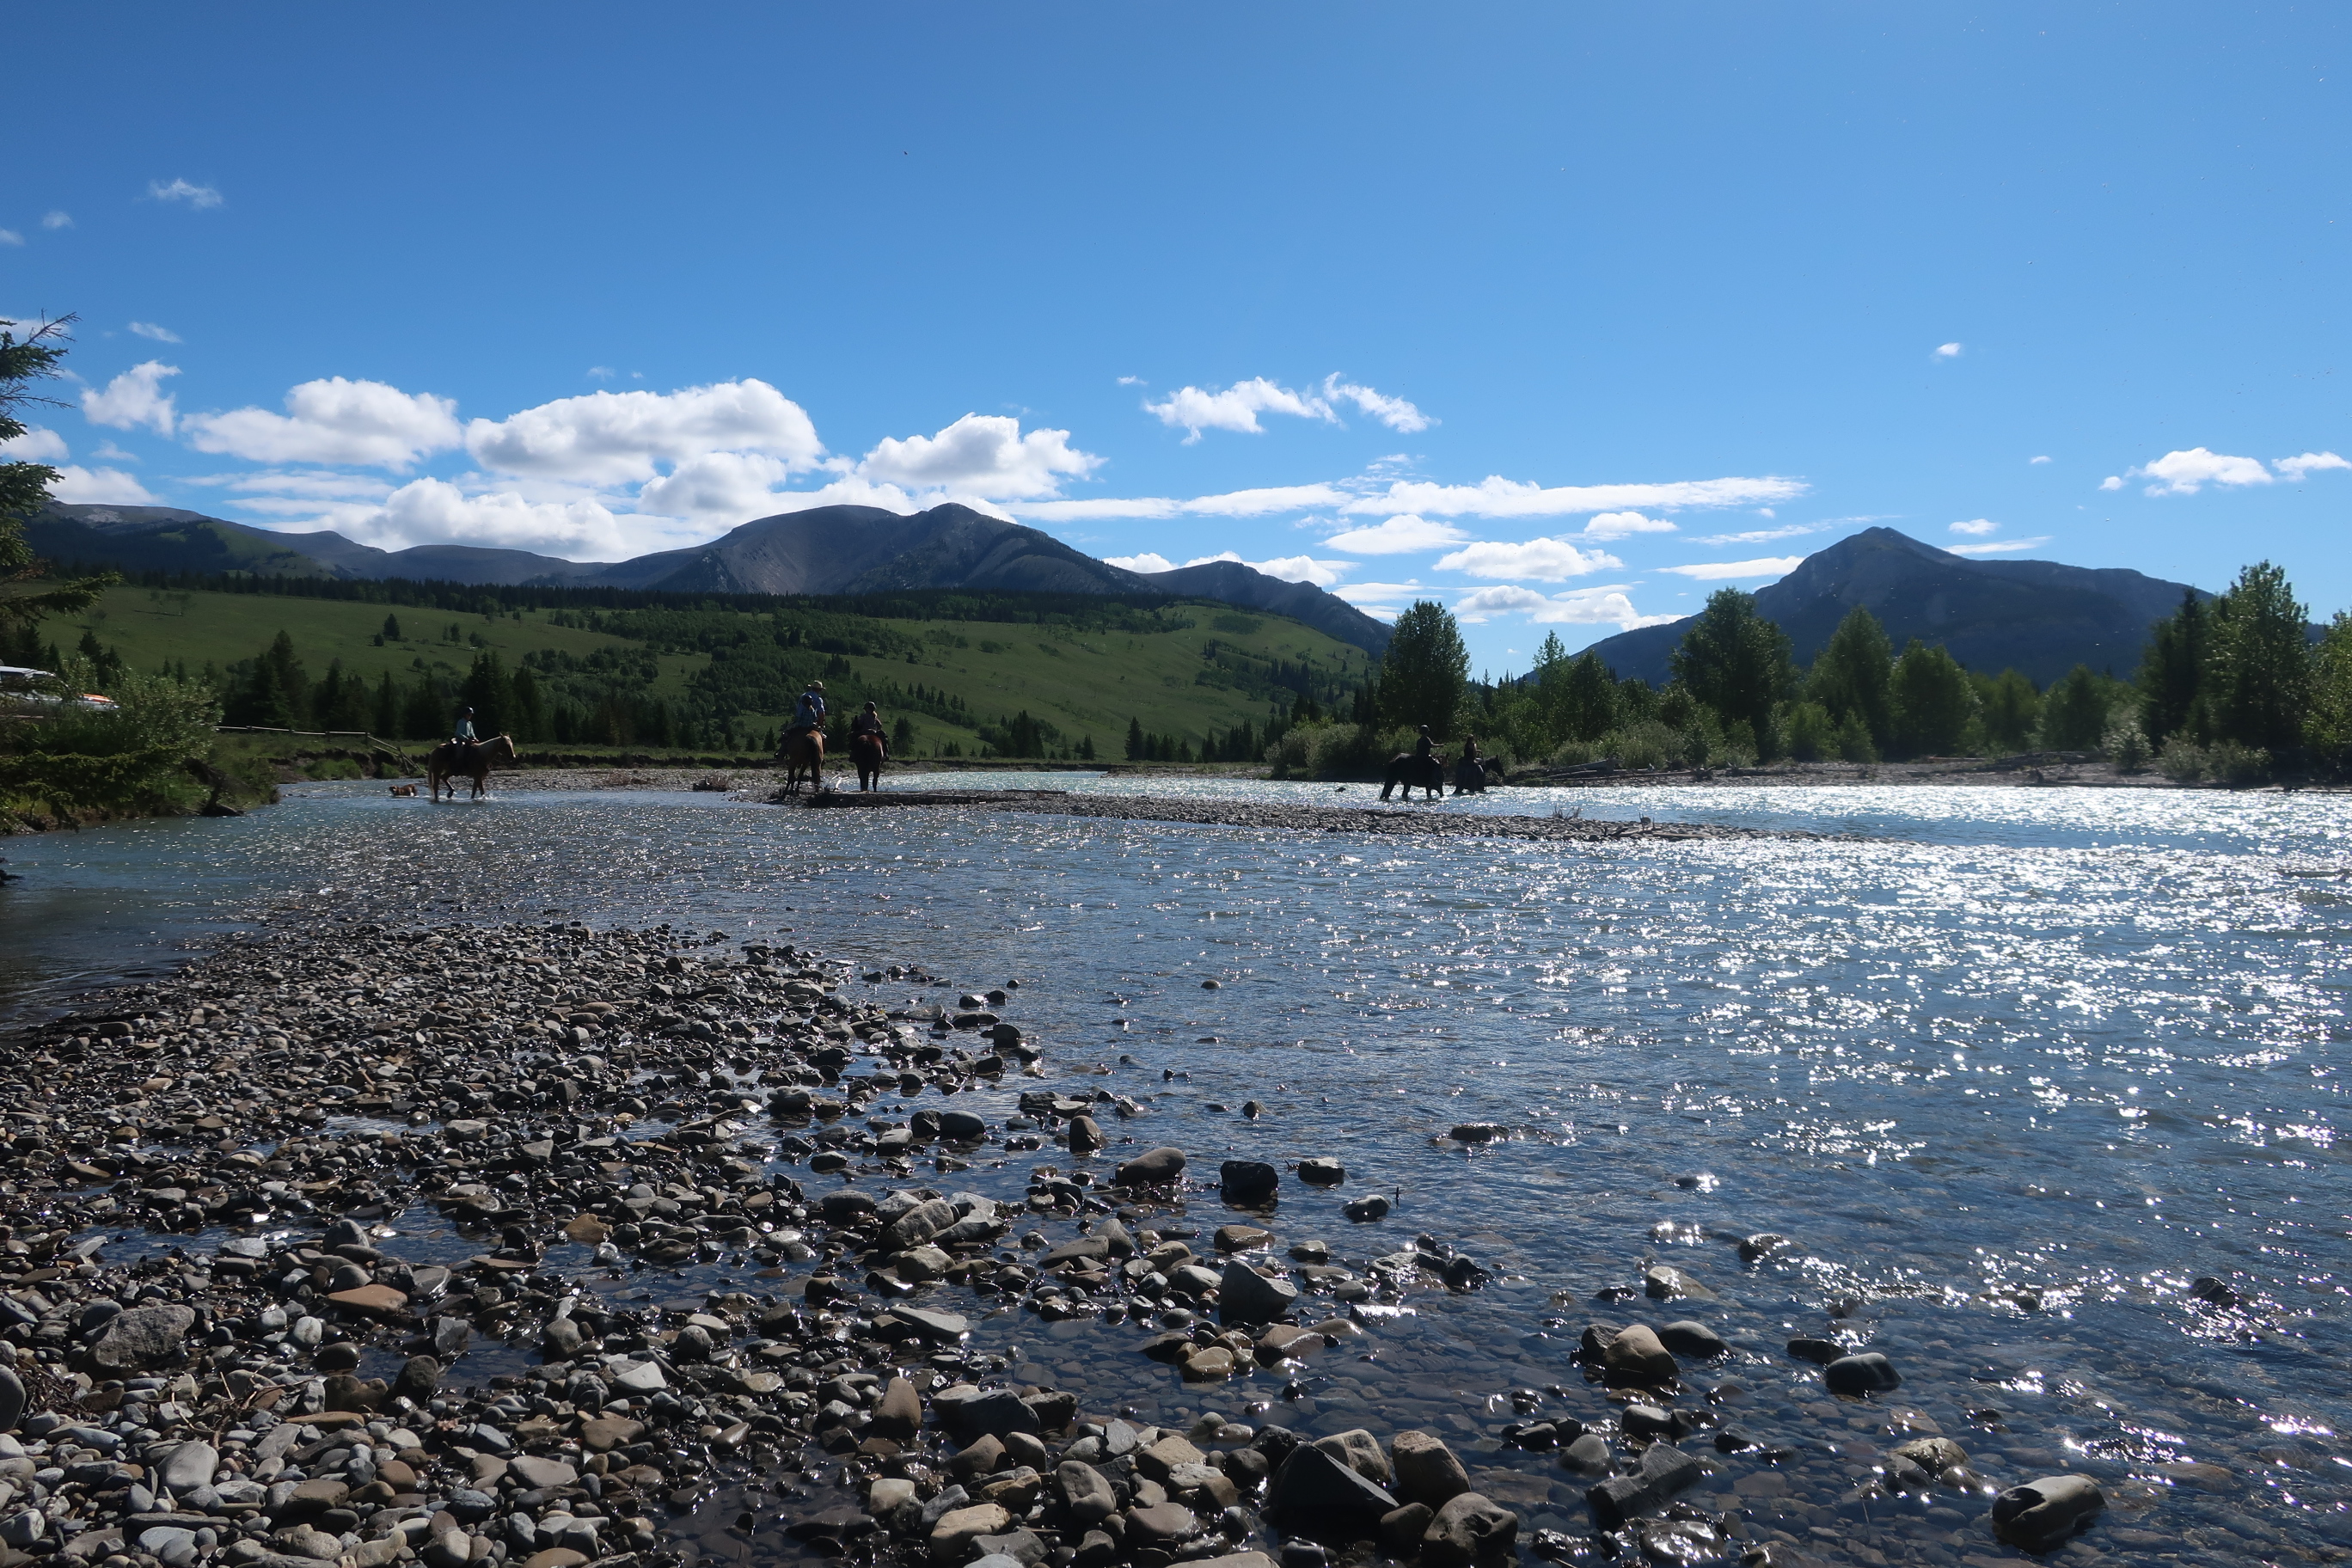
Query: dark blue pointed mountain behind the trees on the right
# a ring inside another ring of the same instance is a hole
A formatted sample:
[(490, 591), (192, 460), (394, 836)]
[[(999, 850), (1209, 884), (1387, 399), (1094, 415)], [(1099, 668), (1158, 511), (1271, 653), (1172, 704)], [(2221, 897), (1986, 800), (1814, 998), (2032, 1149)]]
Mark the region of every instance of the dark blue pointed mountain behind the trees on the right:
[[(1971, 559), (1896, 529), (1863, 529), (1759, 588), (1757, 614), (1780, 623), (1799, 665), (1813, 661), (1846, 611), (1863, 607), (1898, 651), (1912, 637), (1940, 642), (1971, 670), (2020, 670), (2046, 686), (2074, 665), (2129, 677), (2147, 628), (2190, 592), (2211, 597), (2122, 567)], [(1637, 675), (1656, 686), (1670, 679), (1668, 656), (1689, 630), (1689, 621), (1644, 625), (1592, 651), (1621, 679)]]

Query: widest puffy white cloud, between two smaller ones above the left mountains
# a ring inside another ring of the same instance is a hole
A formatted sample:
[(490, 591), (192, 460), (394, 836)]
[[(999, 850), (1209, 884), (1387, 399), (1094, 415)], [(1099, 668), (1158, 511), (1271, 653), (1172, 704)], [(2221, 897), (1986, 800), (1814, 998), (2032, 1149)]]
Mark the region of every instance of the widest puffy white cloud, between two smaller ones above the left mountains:
[(466, 425), (485, 468), (572, 484), (642, 484), (659, 463), (706, 451), (750, 451), (795, 470), (823, 458), (809, 414), (764, 381), (722, 381), (680, 393), (557, 397), (501, 421)]

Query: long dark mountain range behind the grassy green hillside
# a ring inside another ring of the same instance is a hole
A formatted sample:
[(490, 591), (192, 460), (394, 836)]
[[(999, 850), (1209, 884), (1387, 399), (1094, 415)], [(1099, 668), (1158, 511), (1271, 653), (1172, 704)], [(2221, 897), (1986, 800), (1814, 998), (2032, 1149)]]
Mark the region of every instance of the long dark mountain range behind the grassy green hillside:
[(844, 595), (990, 588), (1221, 599), (1303, 621), (1374, 656), (1388, 646), (1385, 625), (1308, 583), (1287, 583), (1240, 562), (1127, 571), (1037, 529), (955, 503), (913, 515), (873, 505), (779, 512), (746, 522), (706, 545), (626, 562), (567, 562), (529, 550), (473, 545), (376, 550), (341, 534), (278, 534), (167, 505), (54, 503), (26, 524), (26, 538), (49, 559), (129, 571), (252, 571), (663, 592)]

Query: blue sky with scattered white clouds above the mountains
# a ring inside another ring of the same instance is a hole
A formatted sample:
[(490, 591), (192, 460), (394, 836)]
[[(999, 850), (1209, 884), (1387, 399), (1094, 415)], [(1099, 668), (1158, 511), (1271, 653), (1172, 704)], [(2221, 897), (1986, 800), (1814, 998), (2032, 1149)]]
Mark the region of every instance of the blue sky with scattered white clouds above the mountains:
[(826, 498), (1482, 668), (1886, 522), (2352, 604), (2340, 7), (68, 7), (66, 498), (614, 559)]

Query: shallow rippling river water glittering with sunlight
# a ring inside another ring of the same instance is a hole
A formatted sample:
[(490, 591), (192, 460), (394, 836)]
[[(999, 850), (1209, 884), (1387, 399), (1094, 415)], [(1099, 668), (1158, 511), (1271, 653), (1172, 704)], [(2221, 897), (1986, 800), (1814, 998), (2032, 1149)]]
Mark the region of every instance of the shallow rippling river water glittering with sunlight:
[[(993, 783), (1364, 802), (1331, 785)], [(1658, 788), (1442, 809), (1832, 837), (1374, 842), (301, 785), (240, 820), (7, 842), (24, 882), (0, 891), (0, 1023), (228, 929), (350, 914), (670, 922), (957, 985), (1018, 978), (1014, 1016), (1056, 1084), (1145, 1103), (1115, 1135), (1211, 1171), (1345, 1161), (1336, 1194), (1284, 1185), (1284, 1244), (1324, 1237), (1359, 1260), (1425, 1232), (1498, 1274), (1475, 1295), (1416, 1295), (1376, 1324), (1371, 1359), (1334, 1349), (1289, 1401), (1265, 1378), (1188, 1389), (1134, 1356), (1134, 1331), (983, 1326), (1089, 1406), (1176, 1420), (1270, 1401), (1249, 1418), (1430, 1425), (1491, 1490), (1517, 1486), (1505, 1500), (1534, 1523), (1573, 1530), (1578, 1486), (1494, 1448), (1505, 1394), (1555, 1389), (1550, 1413), (1599, 1422), (1606, 1401), (1566, 1361), (1578, 1328), (1698, 1316), (1738, 1347), (1715, 1371), (1738, 1385), (1722, 1408), (1799, 1450), (1710, 1507), (1748, 1507), (1806, 1547), (1999, 1552), (1983, 1502), (1849, 1500), (1917, 1432), (1957, 1439), (2002, 1486), (2098, 1476), (2110, 1516), (2072, 1559), (2352, 1547), (2340, 797)], [(1244, 1100), (1263, 1114), (1235, 1114)], [(1510, 1135), (1449, 1138), (1482, 1121)], [(1023, 1173), (1000, 1178), (1011, 1197)], [(1378, 1244), (1338, 1215), (1369, 1190), (1397, 1201)], [(1745, 1267), (1729, 1239), (1752, 1232), (1797, 1246)], [(1651, 1262), (1712, 1300), (1595, 1305), (1639, 1293)], [(2230, 1295), (2199, 1298), (2199, 1276)], [(1884, 1349), (1903, 1389), (1828, 1401), (1780, 1352), (1797, 1333)]]

